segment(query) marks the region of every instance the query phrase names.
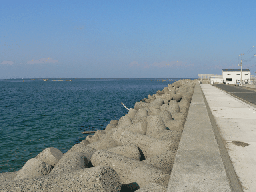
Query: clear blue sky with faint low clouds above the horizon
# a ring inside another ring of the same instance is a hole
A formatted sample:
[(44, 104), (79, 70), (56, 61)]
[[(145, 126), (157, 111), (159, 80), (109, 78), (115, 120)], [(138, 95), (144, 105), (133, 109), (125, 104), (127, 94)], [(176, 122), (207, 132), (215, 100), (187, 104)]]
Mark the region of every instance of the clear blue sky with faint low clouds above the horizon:
[(0, 79), (256, 71), (256, 1), (1, 1)]

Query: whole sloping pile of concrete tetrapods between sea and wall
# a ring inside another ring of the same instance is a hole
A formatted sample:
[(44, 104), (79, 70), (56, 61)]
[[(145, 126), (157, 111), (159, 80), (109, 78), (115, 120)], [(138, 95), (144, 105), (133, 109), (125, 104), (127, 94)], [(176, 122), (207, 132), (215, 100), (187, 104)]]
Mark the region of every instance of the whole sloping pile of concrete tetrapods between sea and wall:
[(20, 171), (0, 174), (0, 189), (166, 190), (195, 83), (180, 80), (148, 95), (65, 154), (46, 148)]

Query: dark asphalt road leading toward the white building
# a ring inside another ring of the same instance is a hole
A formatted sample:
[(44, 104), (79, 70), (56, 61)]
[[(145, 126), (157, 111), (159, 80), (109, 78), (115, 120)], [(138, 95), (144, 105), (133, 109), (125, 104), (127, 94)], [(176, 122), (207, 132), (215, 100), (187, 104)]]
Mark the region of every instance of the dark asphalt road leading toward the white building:
[(256, 91), (225, 84), (215, 84), (214, 86), (256, 105)]

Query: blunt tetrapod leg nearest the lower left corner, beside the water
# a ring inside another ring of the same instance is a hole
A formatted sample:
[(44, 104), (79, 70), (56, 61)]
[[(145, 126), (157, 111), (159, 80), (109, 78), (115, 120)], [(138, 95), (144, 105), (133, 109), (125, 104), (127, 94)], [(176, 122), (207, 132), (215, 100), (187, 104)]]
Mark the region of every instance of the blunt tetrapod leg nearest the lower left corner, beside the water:
[(14, 180), (48, 175), (52, 169), (53, 166), (50, 164), (36, 158), (32, 158), (29, 159), (19, 170)]

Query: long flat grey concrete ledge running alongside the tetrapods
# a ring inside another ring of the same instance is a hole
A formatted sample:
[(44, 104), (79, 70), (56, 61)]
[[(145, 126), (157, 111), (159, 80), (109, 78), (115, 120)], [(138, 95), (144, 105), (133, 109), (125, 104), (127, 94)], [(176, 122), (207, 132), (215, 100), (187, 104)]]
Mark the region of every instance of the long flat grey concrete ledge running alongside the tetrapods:
[(196, 84), (167, 192), (231, 192), (199, 83)]

